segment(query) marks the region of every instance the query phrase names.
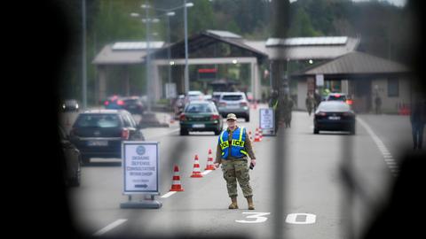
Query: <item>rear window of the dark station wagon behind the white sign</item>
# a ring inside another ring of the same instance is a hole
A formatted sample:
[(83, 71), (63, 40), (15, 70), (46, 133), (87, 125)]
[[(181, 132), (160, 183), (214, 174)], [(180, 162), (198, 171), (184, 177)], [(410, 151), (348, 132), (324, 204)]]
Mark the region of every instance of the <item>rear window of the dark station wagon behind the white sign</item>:
[(120, 119), (114, 114), (81, 114), (75, 127), (119, 127)]

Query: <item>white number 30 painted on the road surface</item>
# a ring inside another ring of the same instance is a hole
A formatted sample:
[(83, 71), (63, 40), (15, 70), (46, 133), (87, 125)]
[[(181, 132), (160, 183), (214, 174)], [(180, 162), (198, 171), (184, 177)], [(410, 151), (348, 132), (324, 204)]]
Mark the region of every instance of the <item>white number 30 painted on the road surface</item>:
[[(268, 220), (264, 217), (271, 214), (271, 212), (242, 212), (242, 214), (248, 214), (246, 218), (248, 220), (235, 220), (239, 223), (262, 223)], [(310, 213), (291, 213), (287, 215), (286, 222), (289, 224), (312, 224), (315, 223), (317, 216)]]

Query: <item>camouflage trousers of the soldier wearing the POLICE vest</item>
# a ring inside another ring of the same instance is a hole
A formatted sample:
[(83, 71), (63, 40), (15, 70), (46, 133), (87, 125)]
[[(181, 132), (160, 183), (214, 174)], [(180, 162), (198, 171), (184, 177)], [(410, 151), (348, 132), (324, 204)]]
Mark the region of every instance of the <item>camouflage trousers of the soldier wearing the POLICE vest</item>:
[(237, 180), (240, 183), (244, 197), (253, 196), (250, 187), (250, 175), (248, 174), (247, 159), (222, 160), (222, 172), (226, 181), (229, 197), (237, 197)]

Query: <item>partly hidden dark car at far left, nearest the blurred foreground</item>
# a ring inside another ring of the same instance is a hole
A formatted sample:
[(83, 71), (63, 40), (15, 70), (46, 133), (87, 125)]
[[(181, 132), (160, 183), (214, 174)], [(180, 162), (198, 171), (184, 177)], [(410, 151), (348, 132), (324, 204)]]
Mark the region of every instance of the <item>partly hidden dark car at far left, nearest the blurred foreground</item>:
[(59, 141), (64, 153), (64, 164), (65, 168), (63, 169), (64, 180), (67, 186), (78, 187), (80, 186), (82, 178), (82, 169), (81, 169), (81, 154), (77, 150), (75, 145), (69, 141), (67, 133), (62, 127), (59, 127)]

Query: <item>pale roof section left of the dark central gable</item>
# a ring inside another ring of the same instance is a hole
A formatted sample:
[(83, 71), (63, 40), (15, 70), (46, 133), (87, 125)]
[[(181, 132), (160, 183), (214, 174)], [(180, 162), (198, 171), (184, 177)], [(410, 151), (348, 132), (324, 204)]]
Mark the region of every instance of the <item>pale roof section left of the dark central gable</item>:
[[(164, 42), (150, 42), (150, 49), (164, 46)], [(93, 59), (95, 65), (126, 65), (145, 62), (146, 42), (115, 42), (107, 44)]]

